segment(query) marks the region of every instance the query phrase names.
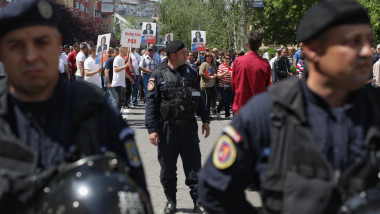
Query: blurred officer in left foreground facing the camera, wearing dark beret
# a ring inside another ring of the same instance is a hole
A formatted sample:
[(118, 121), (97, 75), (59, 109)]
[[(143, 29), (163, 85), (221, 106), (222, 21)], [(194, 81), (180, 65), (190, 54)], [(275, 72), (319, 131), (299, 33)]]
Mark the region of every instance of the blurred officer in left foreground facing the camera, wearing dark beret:
[(0, 80), (1, 213), (29, 212), (28, 182), (42, 183), (36, 178), (57, 162), (107, 151), (127, 162), (130, 177), (148, 194), (133, 130), (102, 91), (60, 78), (57, 23), (45, 0), (0, 11), (0, 61), (8, 76)]

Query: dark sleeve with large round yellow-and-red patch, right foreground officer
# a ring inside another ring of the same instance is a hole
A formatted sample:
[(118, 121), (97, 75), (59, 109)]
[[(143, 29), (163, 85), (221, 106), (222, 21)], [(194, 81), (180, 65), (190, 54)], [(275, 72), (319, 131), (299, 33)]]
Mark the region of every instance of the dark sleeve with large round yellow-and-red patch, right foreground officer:
[(204, 168), (198, 193), (210, 213), (257, 213), (246, 200), (248, 184), (259, 186), (257, 163), (269, 143), (269, 97), (255, 96), (224, 127)]

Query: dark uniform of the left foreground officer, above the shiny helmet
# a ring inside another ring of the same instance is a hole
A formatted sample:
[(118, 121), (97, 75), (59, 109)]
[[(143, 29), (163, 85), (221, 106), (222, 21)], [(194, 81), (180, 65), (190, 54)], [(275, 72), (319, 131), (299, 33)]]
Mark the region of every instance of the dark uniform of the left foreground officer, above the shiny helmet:
[[(61, 78), (51, 99), (25, 103), (10, 94), (8, 83), (3, 80), (0, 82), (0, 127), (0, 144), (4, 146), (1, 160), (25, 161), (17, 155), (19, 151), (6, 150), (6, 145), (19, 145), (25, 150), (30, 148), (37, 159), (35, 164), (33, 161), (28, 164), (33, 168), (31, 172), (38, 174), (54, 167), (71, 153), (80, 158), (113, 151), (127, 161), (129, 175), (147, 193), (134, 131), (111, 108), (102, 91), (92, 85)], [(5, 163), (1, 165), (2, 170), (26, 170), (22, 164), (6, 166)], [(0, 198), (0, 205), (9, 208), (16, 203), (17, 207), (17, 200), (12, 201), (7, 195)], [(14, 208), (12, 213), (17, 213)]]

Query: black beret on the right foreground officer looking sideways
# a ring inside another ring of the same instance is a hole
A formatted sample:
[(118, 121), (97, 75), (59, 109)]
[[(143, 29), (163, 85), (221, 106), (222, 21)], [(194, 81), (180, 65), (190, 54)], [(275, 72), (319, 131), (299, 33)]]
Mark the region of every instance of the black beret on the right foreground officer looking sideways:
[(370, 24), (368, 13), (356, 1), (324, 1), (311, 7), (302, 17), (298, 42), (314, 38), (330, 27), (343, 24)]

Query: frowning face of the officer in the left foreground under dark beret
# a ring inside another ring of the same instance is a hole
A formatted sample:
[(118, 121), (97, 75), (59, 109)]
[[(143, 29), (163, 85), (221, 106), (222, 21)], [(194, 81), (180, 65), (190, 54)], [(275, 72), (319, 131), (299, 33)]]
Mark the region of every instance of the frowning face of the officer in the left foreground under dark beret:
[(0, 41), (0, 61), (10, 86), (24, 94), (37, 95), (58, 81), (58, 57), (62, 38), (49, 26), (13, 30)]

